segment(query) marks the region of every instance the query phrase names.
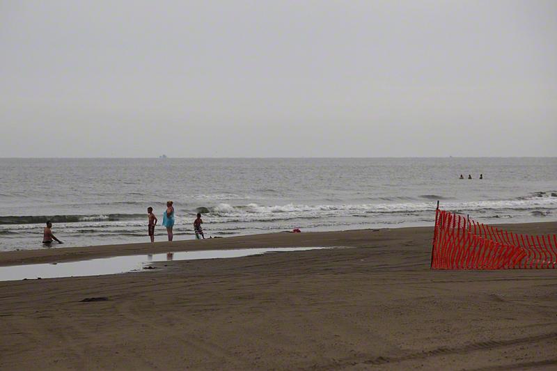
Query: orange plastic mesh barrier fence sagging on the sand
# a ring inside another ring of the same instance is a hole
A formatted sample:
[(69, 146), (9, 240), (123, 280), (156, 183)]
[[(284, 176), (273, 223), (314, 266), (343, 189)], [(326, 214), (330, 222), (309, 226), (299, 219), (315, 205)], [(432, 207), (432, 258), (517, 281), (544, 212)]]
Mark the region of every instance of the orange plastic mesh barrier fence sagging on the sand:
[(432, 269), (542, 269), (557, 264), (557, 235), (517, 235), (437, 209)]

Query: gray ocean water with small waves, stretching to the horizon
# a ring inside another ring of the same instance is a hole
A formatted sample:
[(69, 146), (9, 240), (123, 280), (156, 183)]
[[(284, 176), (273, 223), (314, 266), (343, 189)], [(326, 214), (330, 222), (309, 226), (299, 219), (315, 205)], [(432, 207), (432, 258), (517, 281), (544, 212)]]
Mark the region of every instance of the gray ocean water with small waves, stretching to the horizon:
[(437, 200), (484, 223), (555, 221), (552, 193), (557, 158), (0, 159), (0, 251), (43, 248), (47, 219), (53, 246), (148, 242), (146, 209), (160, 223), (166, 200), (175, 239), (193, 239), (198, 211), (205, 237), (432, 226)]

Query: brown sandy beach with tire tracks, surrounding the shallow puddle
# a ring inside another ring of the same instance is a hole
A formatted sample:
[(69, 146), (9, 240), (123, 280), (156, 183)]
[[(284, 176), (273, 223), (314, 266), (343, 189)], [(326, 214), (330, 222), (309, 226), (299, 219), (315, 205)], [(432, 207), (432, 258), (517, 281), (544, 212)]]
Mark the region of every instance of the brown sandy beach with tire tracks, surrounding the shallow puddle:
[[(557, 223), (506, 226), (555, 233)], [(432, 228), (0, 253), (0, 265), (342, 246), (0, 283), (0, 368), (557, 369), (557, 271), (432, 271)], [(107, 301), (82, 302), (91, 297)]]

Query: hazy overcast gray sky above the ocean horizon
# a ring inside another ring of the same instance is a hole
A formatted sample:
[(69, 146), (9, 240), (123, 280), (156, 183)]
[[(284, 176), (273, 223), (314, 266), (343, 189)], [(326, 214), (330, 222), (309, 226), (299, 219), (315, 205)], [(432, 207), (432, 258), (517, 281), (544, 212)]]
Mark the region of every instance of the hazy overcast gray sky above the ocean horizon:
[(557, 156), (557, 1), (0, 0), (0, 157)]

